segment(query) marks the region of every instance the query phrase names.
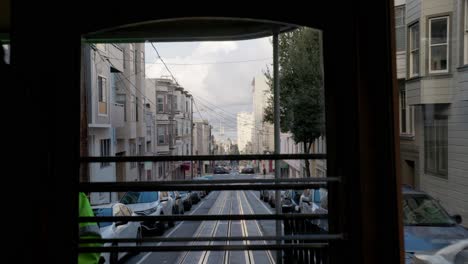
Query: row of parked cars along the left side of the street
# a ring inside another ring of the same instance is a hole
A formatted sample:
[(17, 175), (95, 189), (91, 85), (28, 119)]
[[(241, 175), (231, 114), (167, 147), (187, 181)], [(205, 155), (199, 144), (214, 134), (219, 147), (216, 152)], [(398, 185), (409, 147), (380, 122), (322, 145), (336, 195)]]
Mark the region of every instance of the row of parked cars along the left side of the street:
[[(194, 180), (209, 180), (210, 176), (198, 177)], [(209, 191), (154, 191), (126, 192), (117, 203), (93, 206), (95, 216), (159, 216), (184, 214), (191, 210), (208, 195)], [(174, 221), (117, 221), (98, 223), (102, 238), (142, 238), (146, 235), (164, 233), (166, 228), (174, 226)], [(115, 244), (105, 244), (114, 246)], [(121, 243), (119, 246), (135, 246), (135, 243)], [(103, 263), (118, 263), (126, 252), (102, 253)]]

